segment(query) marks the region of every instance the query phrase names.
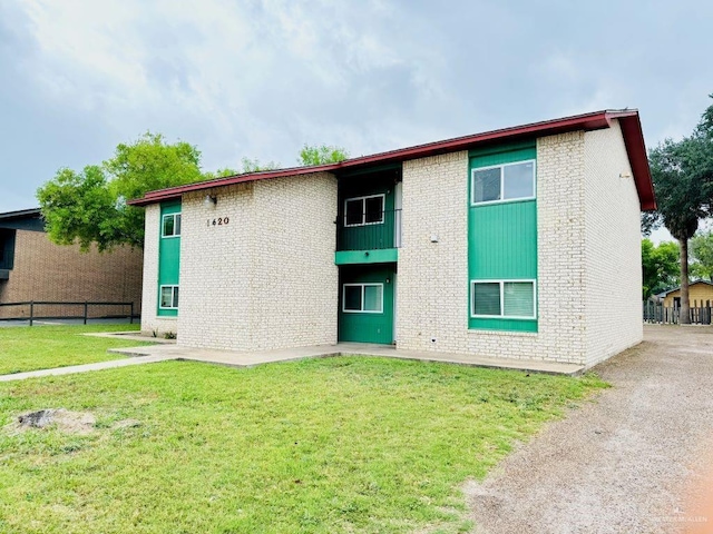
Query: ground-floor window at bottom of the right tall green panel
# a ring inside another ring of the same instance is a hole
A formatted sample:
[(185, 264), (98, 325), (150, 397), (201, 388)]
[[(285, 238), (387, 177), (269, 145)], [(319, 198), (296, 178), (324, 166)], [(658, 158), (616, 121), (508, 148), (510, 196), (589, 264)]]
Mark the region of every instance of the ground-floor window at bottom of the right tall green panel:
[(472, 317), (534, 319), (535, 280), (471, 281)]

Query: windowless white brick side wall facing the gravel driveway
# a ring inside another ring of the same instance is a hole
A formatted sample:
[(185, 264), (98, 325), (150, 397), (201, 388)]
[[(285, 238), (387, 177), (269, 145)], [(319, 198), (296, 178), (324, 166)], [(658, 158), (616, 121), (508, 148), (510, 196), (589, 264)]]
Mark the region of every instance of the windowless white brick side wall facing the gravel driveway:
[(590, 366), (643, 339), (641, 222), (618, 122), (585, 134), (584, 148), (585, 306)]

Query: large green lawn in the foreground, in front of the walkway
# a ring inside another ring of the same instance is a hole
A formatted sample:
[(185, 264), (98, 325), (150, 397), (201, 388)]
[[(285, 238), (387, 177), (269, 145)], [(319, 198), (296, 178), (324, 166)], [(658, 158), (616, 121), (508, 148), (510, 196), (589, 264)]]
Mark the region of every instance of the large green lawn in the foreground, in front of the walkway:
[(0, 428), (0, 532), (462, 532), (460, 485), (600, 387), (359, 356), (0, 384), (0, 425), (97, 417), (89, 435)]

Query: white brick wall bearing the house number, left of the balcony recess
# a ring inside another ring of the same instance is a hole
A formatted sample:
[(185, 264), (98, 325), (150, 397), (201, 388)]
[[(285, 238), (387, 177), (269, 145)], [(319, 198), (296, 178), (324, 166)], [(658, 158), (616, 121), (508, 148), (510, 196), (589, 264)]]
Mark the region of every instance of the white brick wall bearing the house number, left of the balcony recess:
[[(184, 196), (178, 343), (235, 350), (336, 342), (336, 180), (305, 175)], [(208, 224), (228, 218), (227, 225)], [(155, 287), (155, 286), (154, 286)]]

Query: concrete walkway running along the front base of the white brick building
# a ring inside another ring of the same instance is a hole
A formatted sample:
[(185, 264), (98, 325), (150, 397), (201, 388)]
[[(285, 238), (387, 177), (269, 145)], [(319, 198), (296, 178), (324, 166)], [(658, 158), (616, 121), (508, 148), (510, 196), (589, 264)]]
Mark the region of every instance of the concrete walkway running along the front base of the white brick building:
[(69, 375), (89, 370), (111, 369), (127, 365), (152, 364), (166, 360), (204, 362), (208, 364), (227, 365), (231, 367), (252, 367), (261, 364), (276, 362), (291, 362), (302, 358), (324, 358), (331, 356), (380, 356), (387, 358), (418, 359), (422, 362), (440, 362), (445, 364), (468, 365), (473, 367), (489, 367), (498, 369), (516, 369), (534, 373), (547, 373), (557, 375), (577, 375), (583, 366), (576, 364), (560, 364), (555, 362), (520, 360), (506, 358), (488, 358), (466, 356), (459, 354), (398, 350), (390, 345), (372, 345), (367, 343), (339, 343), (336, 345), (319, 345), (313, 347), (285, 348), (261, 352), (233, 352), (215, 350), (207, 348), (191, 348), (176, 345), (175, 340), (157, 339), (136, 335), (135, 333), (91, 333), (85, 334), (95, 337), (110, 337), (115, 339), (130, 339), (157, 345), (140, 347), (111, 348), (109, 353), (131, 356), (128, 359), (115, 359), (97, 364), (74, 365), (55, 369), (31, 370), (0, 376), (0, 382), (22, 380), (41, 376)]

